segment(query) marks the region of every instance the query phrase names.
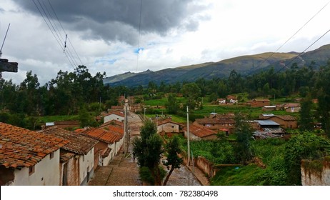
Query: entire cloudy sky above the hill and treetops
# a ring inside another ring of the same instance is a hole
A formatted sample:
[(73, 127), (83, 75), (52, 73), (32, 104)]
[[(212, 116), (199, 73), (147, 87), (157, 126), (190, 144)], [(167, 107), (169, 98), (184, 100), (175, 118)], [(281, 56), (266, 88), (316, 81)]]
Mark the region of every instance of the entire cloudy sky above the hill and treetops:
[[(74, 71), (81, 64), (93, 76), (103, 71), (113, 76), (220, 61), (276, 51), (303, 27), (279, 49), (300, 52), (330, 29), (328, 3), (1, 0), (1, 44), (11, 24), (2, 58), (19, 63), (19, 73), (3, 73), (3, 77), (19, 84), (31, 70), (43, 85), (59, 70)], [(309, 50), (324, 44), (330, 44), (330, 33)]]

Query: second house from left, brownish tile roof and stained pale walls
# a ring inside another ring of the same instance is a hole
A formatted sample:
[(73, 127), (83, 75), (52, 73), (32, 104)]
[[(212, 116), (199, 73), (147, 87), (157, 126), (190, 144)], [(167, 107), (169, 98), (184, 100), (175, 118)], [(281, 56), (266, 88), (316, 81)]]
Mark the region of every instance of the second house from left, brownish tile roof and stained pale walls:
[(60, 151), (60, 185), (87, 185), (94, 175), (94, 146), (98, 141), (56, 126), (40, 132), (69, 141)]

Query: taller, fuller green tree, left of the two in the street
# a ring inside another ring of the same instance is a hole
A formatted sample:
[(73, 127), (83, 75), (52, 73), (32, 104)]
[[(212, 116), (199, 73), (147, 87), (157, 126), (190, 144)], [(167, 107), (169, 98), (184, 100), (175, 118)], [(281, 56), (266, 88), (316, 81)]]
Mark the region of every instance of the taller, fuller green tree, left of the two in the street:
[(138, 161), (140, 176), (141, 172), (145, 172), (145, 169), (148, 168), (154, 182), (150, 183), (150, 180), (146, 179), (143, 181), (149, 181), (149, 184), (161, 185), (162, 177), (159, 164), (164, 150), (162, 149), (163, 141), (156, 133), (156, 124), (149, 120), (145, 121), (144, 126), (141, 127), (141, 137), (135, 138), (133, 141), (133, 156)]

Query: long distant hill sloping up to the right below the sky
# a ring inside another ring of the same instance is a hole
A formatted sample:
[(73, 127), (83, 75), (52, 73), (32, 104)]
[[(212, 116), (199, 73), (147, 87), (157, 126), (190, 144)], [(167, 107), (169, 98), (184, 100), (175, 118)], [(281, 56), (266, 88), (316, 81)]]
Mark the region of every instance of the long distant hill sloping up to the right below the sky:
[[(314, 51), (308, 51), (301, 56), (300, 53), (263, 53), (256, 55), (238, 56), (231, 59), (225, 59), (218, 62), (208, 62), (204, 64), (194, 64), (190, 66), (179, 66), (176, 68), (162, 69), (159, 71), (144, 71), (141, 73), (126, 72), (116, 76), (109, 76), (104, 79), (104, 84), (111, 86), (146, 86), (149, 81), (160, 84), (164, 81), (166, 84), (173, 84), (182, 81), (196, 81), (197, 79), (212, 79), (214, 77), (228, 77), (234, 69), (237, 73), (246, 76), (268, 70), (286, 69), (284, 64), (298, 64), (298, 66), (310, 65), (314, 62), (314, 67), (326, 65), (330, 59), (330, 44), (321, 46)], [(294, 59), (294, 61), (292, 61)]]

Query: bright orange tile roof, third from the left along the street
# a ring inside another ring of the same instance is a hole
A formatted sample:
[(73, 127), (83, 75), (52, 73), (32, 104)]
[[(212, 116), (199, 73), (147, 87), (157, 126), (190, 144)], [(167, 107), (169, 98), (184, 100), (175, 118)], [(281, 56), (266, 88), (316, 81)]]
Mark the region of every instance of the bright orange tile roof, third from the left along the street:
[(86, 131), (81, 132), (81, 134), (91, 137), (92, 139), (104, 141), (108, 144), (113, 144), (114, 142), (120, 141), (124, 136), (124, 134), (120, 134), (115, 131), (96, 128), (86, 129)]

